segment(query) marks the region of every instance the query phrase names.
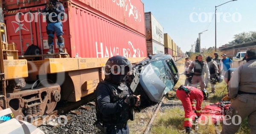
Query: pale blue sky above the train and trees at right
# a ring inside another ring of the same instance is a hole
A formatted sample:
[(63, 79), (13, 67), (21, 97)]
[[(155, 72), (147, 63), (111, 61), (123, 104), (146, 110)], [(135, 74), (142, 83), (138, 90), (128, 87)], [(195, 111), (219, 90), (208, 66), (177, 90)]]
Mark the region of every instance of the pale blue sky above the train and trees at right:
[[(201, 47), (215, 46), (215, 6), (230, 0), (142, 0), (183, 52), (201, 34)], [(256, 0), (237, 0), (217, 7), (217, 47), (243, 31), (256, 31)], [(218, 19), (219, 18), (219, 19)]]

